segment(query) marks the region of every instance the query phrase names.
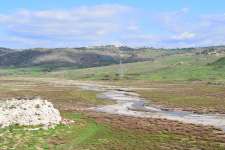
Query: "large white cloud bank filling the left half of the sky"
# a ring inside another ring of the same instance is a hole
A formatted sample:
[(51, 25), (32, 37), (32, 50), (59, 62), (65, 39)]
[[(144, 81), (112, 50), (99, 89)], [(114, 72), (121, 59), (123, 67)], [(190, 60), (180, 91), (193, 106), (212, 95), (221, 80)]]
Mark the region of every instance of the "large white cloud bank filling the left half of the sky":
[(110, 41), (111, 35), (126, 30), (129, 20), (124, 20), (124, 15), (130, 11), (131, 7), (121, 5), (82, 6), (71, 10), (21, 10), (0, 14), (0, 25), (17, 39), (30, 39), (37, 43), (74, 42), (75, 46), (79, 42)]

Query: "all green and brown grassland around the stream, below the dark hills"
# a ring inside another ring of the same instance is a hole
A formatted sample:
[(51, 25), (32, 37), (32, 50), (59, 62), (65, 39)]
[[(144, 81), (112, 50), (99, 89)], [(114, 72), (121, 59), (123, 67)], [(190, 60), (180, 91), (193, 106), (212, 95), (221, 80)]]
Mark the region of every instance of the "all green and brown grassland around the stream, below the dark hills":
[[(98, 99), (96, 92), (50, 84), (47, 78), (101, 80), (104, 84), (132, 86), (146, 100), (164, 107), (225, 113), (225, 68), (221, 63), (213, 65), (217, 59), (176, 55), (154, 62), (124, 64), (123, 80), (119, 80), (118, 65), (55, 72), (42, 68), (0, 69), (0, 76), (4, 76), (0, 78), (0, 99), (41, 96), (50, 100), (64, 118), (75, 120), (75, 124), (50, 130), (32, 131), (18, 126), (0, 129), (0, 149), (224, 150), (224, 133), (212, 127), (80, 113), (80, 108), (112, 102)], [(44, 77), (46, 82), (34, 77)]]

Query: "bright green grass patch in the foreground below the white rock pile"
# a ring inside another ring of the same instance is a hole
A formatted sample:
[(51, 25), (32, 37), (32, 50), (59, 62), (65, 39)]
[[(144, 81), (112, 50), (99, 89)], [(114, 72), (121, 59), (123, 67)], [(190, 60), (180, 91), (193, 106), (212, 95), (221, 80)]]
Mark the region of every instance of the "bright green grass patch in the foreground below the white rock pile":
[(96, 132), (104, 130), (103, 126), (94, 121), (82, 120), (79, 114), (65, 114), (73, 119), (77, 125), (59, 125), (55, 129), (26, 131), (23, 127), (9, 127), (1, 129), (1, 149), (74, 149), (94, 136)]

